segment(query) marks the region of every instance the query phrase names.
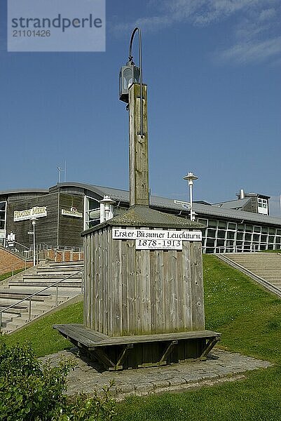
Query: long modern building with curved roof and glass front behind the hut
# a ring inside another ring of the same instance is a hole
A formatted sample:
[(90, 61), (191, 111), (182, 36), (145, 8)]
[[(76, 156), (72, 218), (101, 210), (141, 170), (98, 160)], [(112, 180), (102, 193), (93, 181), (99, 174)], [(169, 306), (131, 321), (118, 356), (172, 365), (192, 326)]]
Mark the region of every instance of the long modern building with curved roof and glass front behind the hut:
[[(0, 244), (8, 235), (32, 248), (32, 219), (37, 248), (81, 248), (81, 232), (100, 223), (104, 196), (114, 203), (114, 215), (129, 207), (129, 192), (78, 182), (64, 182), (49, 189), (0, 192)], [(281, 218), (268, 215), (269, 196), (240, 194), (237, 200), (210, 204), (193, 203), (196, 220), (203, 223), (204, 253), (233, 253), (281, 249)], [(165, 213), (189, 218), (189, 203), (158, 196), (150, 206)]]

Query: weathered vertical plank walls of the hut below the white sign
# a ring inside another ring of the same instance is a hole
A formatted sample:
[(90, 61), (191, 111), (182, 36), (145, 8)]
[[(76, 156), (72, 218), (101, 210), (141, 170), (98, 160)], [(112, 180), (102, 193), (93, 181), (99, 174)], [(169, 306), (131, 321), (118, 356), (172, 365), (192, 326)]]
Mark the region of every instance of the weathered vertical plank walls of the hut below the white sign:
[(84, 324), (110, 336), (205, 328), (201, 243), (135, 250), (111, 227), (84, 237)]

